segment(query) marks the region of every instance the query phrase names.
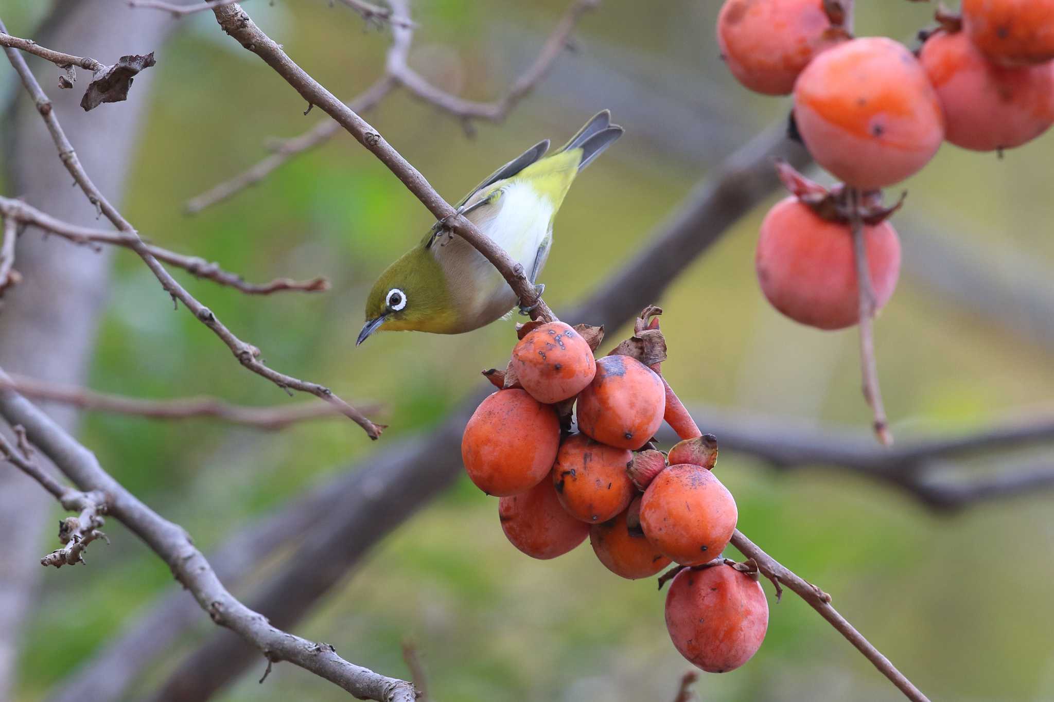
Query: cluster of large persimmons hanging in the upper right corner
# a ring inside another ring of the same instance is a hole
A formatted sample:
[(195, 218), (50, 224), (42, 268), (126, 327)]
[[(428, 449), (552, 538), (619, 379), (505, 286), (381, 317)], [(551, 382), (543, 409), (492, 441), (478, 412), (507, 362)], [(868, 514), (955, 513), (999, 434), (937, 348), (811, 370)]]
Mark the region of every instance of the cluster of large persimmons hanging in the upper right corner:
[(917, 173), (945, 140), (1001, 153), (1054, 123), (1054, 0), (962, 0), (961, 15), (937, 12), (916, 52), (854, 38), (845, 15), (841, 0), (726, 0), (717, 26), (733, 75), (757, 93), (793, 94), (797, 134), (844, 183), (829, 198), (792, 187), (757, 250), (769, 302), (822, 329), (859, 321), (850, 233), (861, 199), (878, 309), (896, 286), (900, 243), (885, 221), (896, 207), (879, 207), (877, 190)]

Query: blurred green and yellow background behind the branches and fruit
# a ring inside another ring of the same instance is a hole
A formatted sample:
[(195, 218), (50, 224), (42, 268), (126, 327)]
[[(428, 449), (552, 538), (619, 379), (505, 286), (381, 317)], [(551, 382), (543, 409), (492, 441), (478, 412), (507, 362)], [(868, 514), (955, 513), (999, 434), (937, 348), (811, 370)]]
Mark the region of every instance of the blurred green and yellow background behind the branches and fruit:
[[(411, 64), (451, 92), (496, 97), (532, 60), (566, 4), (422, 0)], [(912, 36), (933, 9), (859, 5), (859, 34), (895, 38)], [(563, 141), (597, 109), (611, 107), (626, 136), (574, 185), (542, 278), (550, 305), (566, 308), (632, 257), (721, 156), (785, 115), (786, 100), (750, 95), (724, 71), (713, 37), (718, 7), (608, 0), (582, 20), (578, 51), (565, 54), (506, 122), (477, 124), (474, 139), (398, 92), (367, 119), (455, 200), (526, 146), (544, 137)], [(338, 96), (355, 95), (383, 69), (387, 34), (364, 29), (346, 7), (258, 0), (246, 9)], [(30, 0), (15, 0), (5, 19), (19, 34), (38, 14)], [(220, 261), (250, 280), (327, 276), (329, 293), (267, 298), (180, 280), (274, 367), (346, 398), (382, 401), (379, 421), (391, 425), (373, 444), (346, 421), (266, 434), (92, 415), (83, 442), (208, 551), (327, 474), (356, 459), (368, 463), (372, 452), (441, 421), (479, 387), (480, 369), (505, 362), (514, 337), (512, 323), (501, 322), (456, 337), (380, 335), (355, 348), (374, 277), (431, 220), (343, 133), (264, 183), (186, 217), (187, 199), (265, 156), (266, 138), (297, 135), (325, 116), (304, 117), (295, 92), (226, 37), (211, 14), (183, 22), (157, 49), (157, 82), (123, 213), (159, 245)], [(0, 71), (4, 80), (8, 73)], [(1054, 301), (1052, 162), (1050, 135), (1001, 160), (945, 145), (906, 184), (907, 204), (894, 220), (905, 274), (877, 323), (879, 370), (899, 441), (1039, 412), (1054, 396), (1050, 339), (1030, 334), (1028, 321), (1016, 323), (1014, 308), (992, 314), (946, 294), (929, 270), (939, 270), (939, 260), (914, 267), (906, 260), (914, 233), (924, 229), (997, 285), (1026, 285)], [(862, 430), (868, 412), (859, 393), (856, 330), (798, 326), (758, 289), (753, 254), (766, 207), (739, 222), (662, 300), (635, 302), (665, 308), (664, 370), (686, 401)], [(141, 262), (119, 254), (91, 386), (143, 397), (286, 401), (237, 368), (191, 316), (171, 310)], [(981, 467), (999, 469), (1000, 457)], [(722, 455), (719, 475), (737, 498), (741, 528), (831, 593), (932, 699), (1054, 699), (1050, 496), (939, 517), (848, 475), (780, 475), (734, 454)], [(408, 675), (399, 642), (410, 637), (437, 700), (671, 700), (689, 666), (669, 642), (655, 581), (611, 576), (588, 545), (554, 561), (530, 560), (506, 542), (495, 513), (495, 499), (463, 478), (382, 542), (295, 633), (391, 676)], [(114, 545), (94, 546), (87, 567), (46, 574), (24, 642), (19, 700), (41, 699), (171, 586), (160, 560), (118, 525), (110, 530)], [(900, 699), (801, 600), (788, 596), (776, 605), (772, 598), (770, 606), (761, 650), (735, 673), (704, 675), (702, 700)], [(70, 607), (77, 617), (67, 616)], [(163, 680), (211, 626), (202, 616), (193, 636), (147, 671), (135, 696)], [(276, 666), (258, 685), (262, 668), (261, 660), (220, 699), (347, 699), (291, 665)]]

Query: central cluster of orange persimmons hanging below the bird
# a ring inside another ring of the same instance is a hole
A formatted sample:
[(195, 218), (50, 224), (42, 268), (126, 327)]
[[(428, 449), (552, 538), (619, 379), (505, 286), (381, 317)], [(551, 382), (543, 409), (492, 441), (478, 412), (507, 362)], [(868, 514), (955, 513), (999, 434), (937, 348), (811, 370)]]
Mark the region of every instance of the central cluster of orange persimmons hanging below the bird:
[[(588, 536), (623, 578), (689, 566), (670, 584), (666, 626), (686, 659), (723, 673), (757, 651), (768, 605), (756, 568), (721, 558), (736, 501), (713, 473), (717, 441), (661, 376), (660, 312), (646, 308), (633, 336), (599, 359), (603, 328), (523, 325), (506, 369), (484, 374), (499, 389), (465, 427), (462, 458), (528, 556), (555, 558)], [(682, 439), (666, 453), (653, 447), (664, 420)]]

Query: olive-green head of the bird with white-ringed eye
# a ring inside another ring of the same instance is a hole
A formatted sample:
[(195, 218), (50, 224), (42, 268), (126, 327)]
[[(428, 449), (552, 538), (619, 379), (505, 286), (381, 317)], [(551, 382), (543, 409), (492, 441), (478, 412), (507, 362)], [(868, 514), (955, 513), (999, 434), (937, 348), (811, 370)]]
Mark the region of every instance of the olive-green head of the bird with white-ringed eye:
[(355, 345), (374, 332), (437, 332), (453, 314), (443, 269), (416, 247), (380, 274), (366, 298), (366, 323)]

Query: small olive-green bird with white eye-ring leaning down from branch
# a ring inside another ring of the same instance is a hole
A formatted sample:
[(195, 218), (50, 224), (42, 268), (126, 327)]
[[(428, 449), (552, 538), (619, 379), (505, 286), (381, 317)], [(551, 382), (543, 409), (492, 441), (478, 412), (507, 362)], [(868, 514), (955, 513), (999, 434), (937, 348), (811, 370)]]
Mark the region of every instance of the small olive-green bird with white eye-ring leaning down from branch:
[[(575, 176), (622, 134), (610, 111), (601, 111), (549, 156), (544, 139), (503, 165), (457, 202), (456, 213), (522, 265), (541, 295), (538, 277), (552, 246), (557, 210)], [(472, 332), (507, 317), (518, 303), (497, 269), (440, 220), (377, 278), (355, 345), (377, 330)]]

